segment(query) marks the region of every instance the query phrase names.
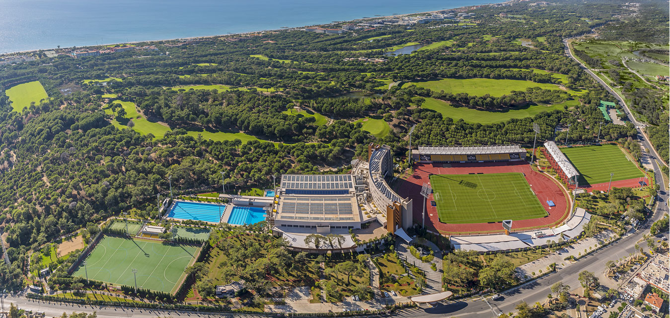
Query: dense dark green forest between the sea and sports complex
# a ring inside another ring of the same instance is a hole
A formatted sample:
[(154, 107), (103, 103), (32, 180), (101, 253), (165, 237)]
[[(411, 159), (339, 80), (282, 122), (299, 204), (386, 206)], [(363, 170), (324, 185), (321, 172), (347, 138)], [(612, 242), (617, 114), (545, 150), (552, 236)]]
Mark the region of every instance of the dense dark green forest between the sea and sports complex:
[[(632, 123), (600, 128), (596, 106), (613, 98), (565, 56), (561, 42), (614, 23), (612, 15), (629, 9), (611, 1), (563, 1), (473, 12), (480, 17), (471, 28), (438, 21), (412, 31), (401, 25), (342, 35), (282, 30), (237, 40), (147, 42), (138, 45), (159, 51), (141, 57), (132, 51), (77, 59), (36, 52), (38, 60), (0, 66), (0, 232), (11, 260), (0, 264), (0, 286), (20, 288), (28, 252), (60, 235), (129, 209), (155, 216), (155, 197), (169, 191), (168, 178), (179, 194), (216, 191), (222, 182), (236, 193), (262, 189), (280, 174), (346, 171), (350, 160), (366, 159), (370, 142), (389, 144), (404, 164), (412, 125), (414, 145), (529, 146), (532, 123), (541, 127), (538, 140), (565, 139), (567, 125), (570, 142), (636, 135)], [(502, 12), (523, 17), (502, 18)], [(532, 47), (514, 43), (519, 38), (531, 39)], [(448, 44), (385, 62), (345, 60), (443, 41)], [(440, 78), (509, 79), (557, 89), (492, 97), (401, 85)], [(31, 81), (39, 81), (49, 98), (13, 110), (5, 91)], [(481, 124), (422, 107), (428, 98), (484, 112), (565, 105)], [(659, 103), (645, 92), (634, 98), (641, 105)], [(321, 114), (327, 123), (287, 113), (293, 109)], [(371, 134), (365, 118), (383, 119), (390, 132)], [(650, 135), (667, 160), (667, 129), (665, 144), (663, 131)]]

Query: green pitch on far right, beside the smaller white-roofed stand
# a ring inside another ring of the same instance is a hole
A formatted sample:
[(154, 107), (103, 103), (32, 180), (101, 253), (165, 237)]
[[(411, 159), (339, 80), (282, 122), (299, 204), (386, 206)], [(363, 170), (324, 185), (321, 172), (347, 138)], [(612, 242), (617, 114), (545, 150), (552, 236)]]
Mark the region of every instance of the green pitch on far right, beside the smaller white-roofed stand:
[(561, 152), (580, 172), (580, 185), (609, 182), (610, 172), (614, 172), (612, 181), (644, 176), (636, 164), (613, 144), (561, 148)]

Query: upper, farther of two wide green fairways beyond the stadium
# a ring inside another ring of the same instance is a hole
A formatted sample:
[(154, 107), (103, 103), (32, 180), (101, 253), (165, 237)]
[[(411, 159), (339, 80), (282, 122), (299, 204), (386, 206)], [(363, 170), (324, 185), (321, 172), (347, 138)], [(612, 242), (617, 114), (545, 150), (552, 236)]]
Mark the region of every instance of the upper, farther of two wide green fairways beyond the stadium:
[(558, 85), (493, 78), (444, 78), (438, 81), (410, 82), (405, 85), (417, 85), (432, 91), (445, 93), (468, 93), (474, 96), (489, 94), (493, 97), (507, 95), (511, 91), (525, 91), (529, 87), (559, 90)]

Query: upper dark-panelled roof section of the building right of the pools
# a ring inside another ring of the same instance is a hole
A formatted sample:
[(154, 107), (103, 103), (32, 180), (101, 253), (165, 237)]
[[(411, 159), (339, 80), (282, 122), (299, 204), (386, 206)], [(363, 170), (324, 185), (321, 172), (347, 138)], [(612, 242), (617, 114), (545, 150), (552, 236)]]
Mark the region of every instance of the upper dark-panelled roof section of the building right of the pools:
[(354, 181), (351, 174), (284, 174), (281, 189), (301, 190), (351, 190)]

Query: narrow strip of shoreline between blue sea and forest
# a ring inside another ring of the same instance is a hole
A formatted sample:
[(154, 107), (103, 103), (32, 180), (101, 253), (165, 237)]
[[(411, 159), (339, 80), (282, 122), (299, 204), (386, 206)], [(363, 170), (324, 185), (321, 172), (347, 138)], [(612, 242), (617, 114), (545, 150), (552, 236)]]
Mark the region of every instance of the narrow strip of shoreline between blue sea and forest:
[[(385, 18), (390, 18), (390, 17), (407, 17), (409, 15), (421, 15), (421, 14), (426, 14), (426, 13), (435, 13), (439, 11), (444, 11), (444, 10), (467, 10), (467, 9), (472, 9), (477, 6), (489, 6), (489, 5), (496, 5), (496, 4), (503, 4), (503, 3), (517, 3), (519, 0), (507, 0), (507, 1), (500, 1), (500, 2), (491, 2), (491, 3), (482, 3), (480, 5), (467, 5), (463, 7), (454, 7), (454, 8), (447, 8), (447, 9), (438, 9), (438, 10), (431, 10), (431, 11), (422, 11), (422, 12), (415, 12), (415, 13), (401, 13), (401, 14), (395, 14), (395, 15), (379, 15), (379, 16), (374, 16), (374, 17), (362, 17), (359, 19), (351, 19), (351, 20), (345, 20), (345, 21), (339, 21), (338, 23), (352, 23), (353, 21), (366, 21), (366, 20), (374, 20), (374, 19), (385, 19)], [(289, 31), (289, 30), (298, 30), (298, 29), (303, 29), (303, 28), (309, 28), (312, 26), (316, 25), (328, 25), (332, 23), (321, 23), (321, 24), (313, 24), (313, 25), (301, 25), (293, 28), (278, 28), (278, 29), (270, 29), (270, 30), (255, 30), (255, 31), (249, 31), (249, 32), (234, 32), (234, 33), (226, 33), (226, 34), (216, 34), (216, 35), (211, 35), (211, 36), (191, 36), (191, 37), (185, 37), (185, 38), (168, 38), (168, 39), (159, 39), (159, 40), (145, 40), (145, 41), (131, 41), (131, 42), (117, 42), (117, 43), (107, 43), (107, 44), (100, 44), (98, 46), (115, 46), (115, 45), (122, 45), (122, 44), (139, 44), (139, 43), (145, 43), (145, 44), (155, 44), (155, 42), (165, 42), (165, 41), (180, 41), (180, 40), (206, 40), (206, 39), (212, 39), (212, 38), (222, 38), (222, 37), (235, 37), (235, 36), (246, 36), (249, 34), (259, 34), (263, 32), (281, 32), (281, 31)], [(20, 54), (28, 54), (28, 53), (34, 53), (34, 52), (39, 52), (39, 51), (49, 51), (49, 50), (66, 50), (68, 48), (92, 48), (95, 46), (68, 46), (64, 48), (38, 48), (34, 50), (23, 50), (23, 51), (16, 51), (16, 52), (7, 52), (0, 54), (0, 58), (6, 57), (6, 56), (14, 56), (14, 55), (20, 55)]]

